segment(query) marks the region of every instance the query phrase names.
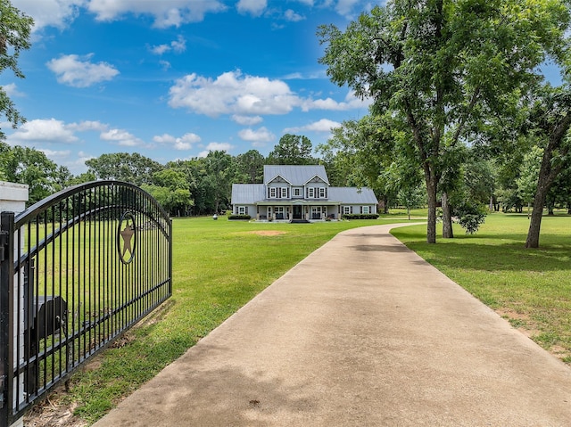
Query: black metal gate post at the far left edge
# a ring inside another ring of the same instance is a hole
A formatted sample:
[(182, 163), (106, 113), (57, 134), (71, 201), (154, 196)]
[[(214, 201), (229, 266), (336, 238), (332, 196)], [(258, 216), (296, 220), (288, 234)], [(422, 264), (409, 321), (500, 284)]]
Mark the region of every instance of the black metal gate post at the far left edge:
[(12, 409), (14, 213), (0, 215), (0, 427), (5, 427)]

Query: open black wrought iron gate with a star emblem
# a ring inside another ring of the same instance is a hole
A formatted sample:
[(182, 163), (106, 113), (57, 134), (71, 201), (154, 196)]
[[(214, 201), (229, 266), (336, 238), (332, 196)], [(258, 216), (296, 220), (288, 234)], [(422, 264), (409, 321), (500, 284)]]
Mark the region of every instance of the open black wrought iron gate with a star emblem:
[(135, 185), (55, 193), (0, 231), (0, 426), (172, 293), (172, 225)]

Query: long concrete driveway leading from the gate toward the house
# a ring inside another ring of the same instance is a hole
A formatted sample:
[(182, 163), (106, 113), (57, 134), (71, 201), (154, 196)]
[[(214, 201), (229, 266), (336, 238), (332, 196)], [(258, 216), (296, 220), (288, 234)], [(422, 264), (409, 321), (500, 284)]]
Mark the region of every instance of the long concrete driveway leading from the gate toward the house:
[(335, 236), (95, 426), (571, 425), (571, 369), (391, 227)]

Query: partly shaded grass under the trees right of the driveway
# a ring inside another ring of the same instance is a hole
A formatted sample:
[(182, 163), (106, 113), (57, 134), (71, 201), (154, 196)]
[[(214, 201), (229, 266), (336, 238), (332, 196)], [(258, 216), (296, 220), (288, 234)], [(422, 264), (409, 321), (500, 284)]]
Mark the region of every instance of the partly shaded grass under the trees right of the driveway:
[(571, 364), (571, 217), (544, 217), (540, 249), (525, 249), (525, 215), (493, 214), (476, 235), (426, 243), (426, 226), (393, 235), (544, 349)]

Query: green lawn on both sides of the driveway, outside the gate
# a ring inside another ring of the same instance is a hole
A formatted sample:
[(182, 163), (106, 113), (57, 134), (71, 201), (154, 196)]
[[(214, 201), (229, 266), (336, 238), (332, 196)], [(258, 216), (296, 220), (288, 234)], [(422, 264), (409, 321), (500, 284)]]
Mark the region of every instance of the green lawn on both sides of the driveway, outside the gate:
[[(175, 219), (172, 298), (74, 375), (70, 392), (52, 401), (77, 406), (76, 415), (95, 422), (335, 234), (392, 222), (407, 222), (406, 212), (300, 225)], [(571, 218), (544, 219), (540, 250), (525, 250), (527, 225), (525, 215), (494, 214), (478, 234), (457, 228), (457, 238), (436, 245), (425, 243), (426, 226), (393, 234), (571, 363)]]

